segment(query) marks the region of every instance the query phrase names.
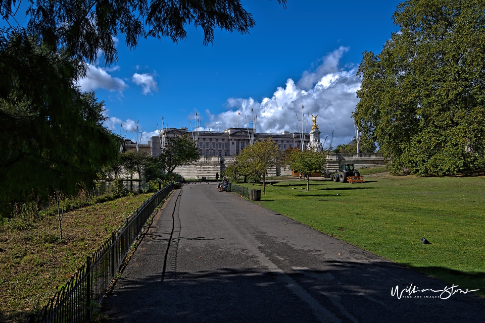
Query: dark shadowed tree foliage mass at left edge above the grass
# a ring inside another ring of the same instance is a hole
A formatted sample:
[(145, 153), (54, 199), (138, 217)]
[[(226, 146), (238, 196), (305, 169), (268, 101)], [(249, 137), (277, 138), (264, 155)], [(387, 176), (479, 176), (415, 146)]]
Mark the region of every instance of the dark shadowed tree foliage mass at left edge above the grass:
[(18, 35), (0, 47), (0, 71), (1, 214), (92, 187), (119, 154), (118, 138), (102, 125), (103, 102), (73, 86), (73, 61)]

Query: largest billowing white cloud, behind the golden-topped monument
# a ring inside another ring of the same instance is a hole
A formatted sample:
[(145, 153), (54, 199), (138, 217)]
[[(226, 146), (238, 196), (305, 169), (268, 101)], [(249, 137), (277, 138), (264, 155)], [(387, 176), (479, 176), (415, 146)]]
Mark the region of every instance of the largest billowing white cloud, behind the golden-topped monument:
[[(265, 97), (258, 102), (254, 98), (229, 98), (227, 107), (230, 111), (212, 115), (206, 111), (208, 121), (205, 129), (222, 131), (237, 125), (246, 127), (246, 119), (251, 120), (251, 109), (258, 114), (256, 130), (264, 133), (281, 133), (282, 131), (298, 132), (297, 115), (302, 119), (302, 105), (305, 120), (309, 118), (307, 132), (311, 130), (310, 114), (318, 115), (317, 124), (322, 132), (321, 140), (328, 136), (325, 148), (329, 146), (332, 130), (334, 130), (333, 146), (348, 143), (354, 137), (352, 111), (358, 102), (356, 91), (360, 88), (361, 79), (356, 76), (355, 69), (341, 69), (340, 59), (348, 47), (335, 49), (321, 59), (315, 71), (305, 71), (301, 79), (295, 83), (288, 79), (280, 86), (272, 97)], [(305, 127), (305, 126), (304, 126)]]

